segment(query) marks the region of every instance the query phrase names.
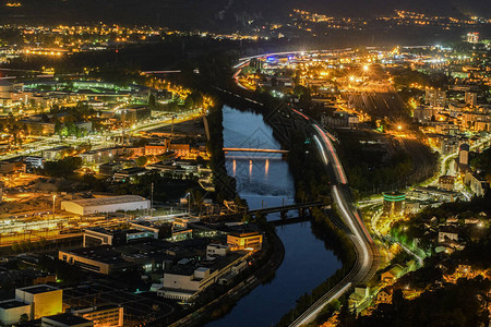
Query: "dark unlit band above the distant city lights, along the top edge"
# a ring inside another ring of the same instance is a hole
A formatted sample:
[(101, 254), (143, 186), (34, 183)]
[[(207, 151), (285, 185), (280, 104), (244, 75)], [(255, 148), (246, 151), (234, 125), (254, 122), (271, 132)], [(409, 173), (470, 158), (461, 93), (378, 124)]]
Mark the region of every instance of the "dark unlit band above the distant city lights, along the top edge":
[(17, 1), (21, 7), (7, 7), (0, 1), (0, 17), (12, 22), (147, 24), (176, 28), (233, 27), (237, 21), (274, 22), (286, 17), (294, 9), (333, 16), (373, 17), (408, 10), (432, 15), (491, 17), (491, 7), (482, 0), (149, 0), (144, 3), (130, 0), (37, 0)]

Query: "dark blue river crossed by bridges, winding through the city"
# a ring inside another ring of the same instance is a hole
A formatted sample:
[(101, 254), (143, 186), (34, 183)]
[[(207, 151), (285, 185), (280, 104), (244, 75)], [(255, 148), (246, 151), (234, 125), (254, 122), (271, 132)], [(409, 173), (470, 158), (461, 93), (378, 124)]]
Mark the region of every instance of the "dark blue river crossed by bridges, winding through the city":
[[(279, 149), (261, 114), (224, 107), (225, 147)], [(227, 171), (249, 207), (292, 204), (295, 185), (288, 164), (277, 154), (227, 155)], [(291, 213), (290, 215), (294, 215)], [(279, 215), (270, 215), (278, 219)], [(342, 264), (324, 242), (312, 234), (310, 222), (277, 227), (285, 259), (275, 278), (238, 301), (231, 312), (206, 326), (273, 326), (296, 305), (296, 300), (333, 275)]]

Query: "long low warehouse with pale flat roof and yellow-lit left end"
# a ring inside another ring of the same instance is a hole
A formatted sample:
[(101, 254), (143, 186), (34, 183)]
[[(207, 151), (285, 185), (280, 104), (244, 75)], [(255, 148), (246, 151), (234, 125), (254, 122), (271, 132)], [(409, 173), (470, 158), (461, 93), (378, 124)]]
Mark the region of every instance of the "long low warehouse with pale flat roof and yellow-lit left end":
[(61, 202), (61, 209), (80, 216), (147, 210), (149, 201), (139, 195), (107, 196)]

